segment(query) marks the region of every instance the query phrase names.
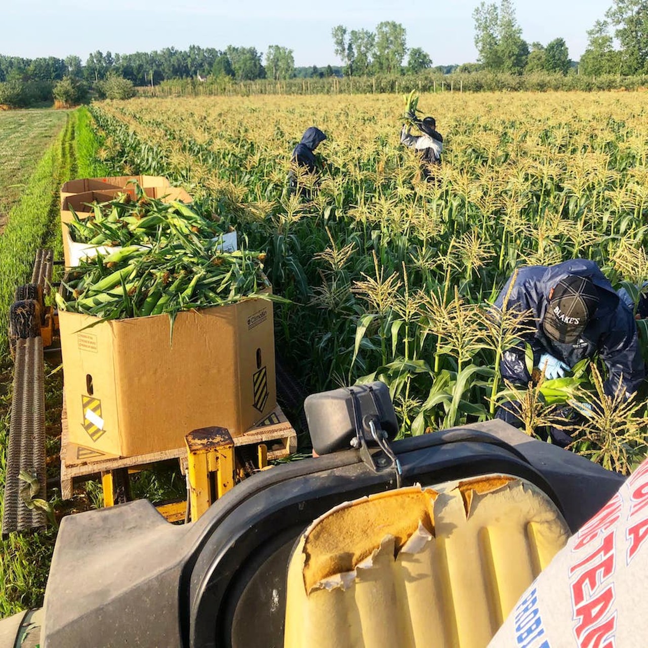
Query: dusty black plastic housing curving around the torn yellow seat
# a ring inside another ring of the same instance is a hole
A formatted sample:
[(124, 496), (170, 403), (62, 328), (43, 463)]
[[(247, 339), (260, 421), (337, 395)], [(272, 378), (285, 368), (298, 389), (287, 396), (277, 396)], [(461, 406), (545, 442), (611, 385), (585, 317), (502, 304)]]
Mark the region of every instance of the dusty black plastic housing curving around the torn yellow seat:
[[(623, 477), (502, 421), (393, 441), (403, 485), (509, 474), (546, 492), (576, 531)], [(355, 449), (264, 470), (197, 522), (145, 501), (64, 518), (45, 593), (45, 648), (283, 645), (295, 540), (335, 505), (395, 487)]]

